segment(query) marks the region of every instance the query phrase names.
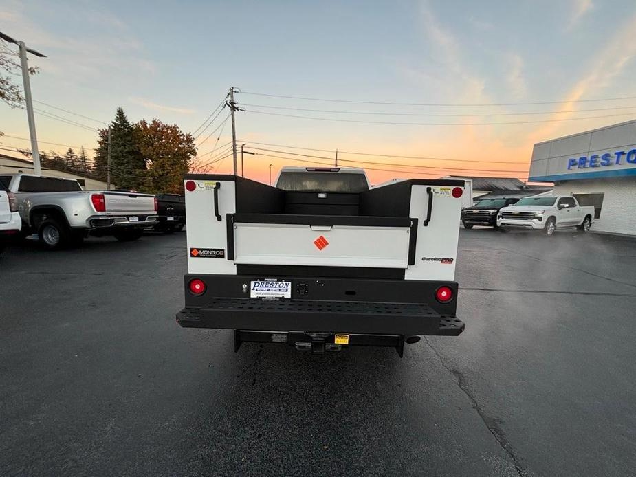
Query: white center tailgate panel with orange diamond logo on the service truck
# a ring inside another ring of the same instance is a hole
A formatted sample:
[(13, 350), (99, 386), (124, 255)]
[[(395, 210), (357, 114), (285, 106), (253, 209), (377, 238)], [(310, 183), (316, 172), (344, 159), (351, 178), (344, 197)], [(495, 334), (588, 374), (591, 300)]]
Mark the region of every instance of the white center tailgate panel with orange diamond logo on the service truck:
[(417, 219), (408, 217), (235, 214), (234, 263), (406, 269)]

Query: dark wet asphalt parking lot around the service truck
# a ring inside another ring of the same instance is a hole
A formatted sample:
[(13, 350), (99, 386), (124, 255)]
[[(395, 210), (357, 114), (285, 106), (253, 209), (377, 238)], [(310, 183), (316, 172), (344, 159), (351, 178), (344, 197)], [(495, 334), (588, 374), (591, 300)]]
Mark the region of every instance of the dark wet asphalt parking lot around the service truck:
[(457, 338), (181, 329), (185, 234), (0, 257), (1, 475), (633, 475), (636, 241), (461, 230)]

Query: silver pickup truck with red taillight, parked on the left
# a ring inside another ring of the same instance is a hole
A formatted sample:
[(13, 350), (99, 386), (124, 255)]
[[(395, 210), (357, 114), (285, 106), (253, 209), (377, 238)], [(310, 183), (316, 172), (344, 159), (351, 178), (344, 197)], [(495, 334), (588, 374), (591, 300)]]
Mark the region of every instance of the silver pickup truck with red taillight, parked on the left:
[(78, 245), (87, 234), (132, 241), (157, 224), (153, 195), (82, 190), (75, 179), (30, 174), (0, 175), (0, 182), (15, 195), (22, 233), (37, 233), (48, 249)]

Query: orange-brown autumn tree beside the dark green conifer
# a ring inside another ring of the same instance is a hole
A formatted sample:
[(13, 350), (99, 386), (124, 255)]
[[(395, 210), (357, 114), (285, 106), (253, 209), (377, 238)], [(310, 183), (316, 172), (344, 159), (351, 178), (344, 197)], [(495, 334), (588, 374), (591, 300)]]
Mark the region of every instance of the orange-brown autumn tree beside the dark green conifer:
[(135, 124), (135, 141), (146, 161), (146, 188), (153, 193), (183, 193), (183, 177), (197, 155), (190, 133), (176, 124), (142, 120)]

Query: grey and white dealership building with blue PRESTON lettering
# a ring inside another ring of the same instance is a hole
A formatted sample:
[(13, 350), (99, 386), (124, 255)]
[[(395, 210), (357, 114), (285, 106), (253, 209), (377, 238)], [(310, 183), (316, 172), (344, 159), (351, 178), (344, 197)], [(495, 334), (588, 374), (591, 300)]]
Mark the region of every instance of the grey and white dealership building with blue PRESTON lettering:
[(592, 230), (636, 236), (636, 120), (535, 144), (529, 181), (594, 206)]

